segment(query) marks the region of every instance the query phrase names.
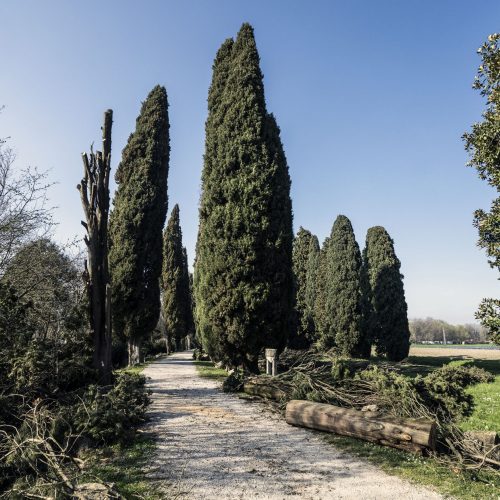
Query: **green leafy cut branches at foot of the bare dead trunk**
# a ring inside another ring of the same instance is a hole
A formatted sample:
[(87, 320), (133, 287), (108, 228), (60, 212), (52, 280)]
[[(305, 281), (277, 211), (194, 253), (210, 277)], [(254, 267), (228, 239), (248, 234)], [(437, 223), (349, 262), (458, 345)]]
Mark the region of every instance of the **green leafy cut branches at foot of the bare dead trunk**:
[(98, 444), (130, 440), (146, 421), (150, 399), (145, 384), (143, 375), (120, 372), (113, 386), (90, 385), (75, 412), (76, 430)]

